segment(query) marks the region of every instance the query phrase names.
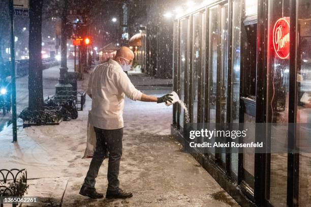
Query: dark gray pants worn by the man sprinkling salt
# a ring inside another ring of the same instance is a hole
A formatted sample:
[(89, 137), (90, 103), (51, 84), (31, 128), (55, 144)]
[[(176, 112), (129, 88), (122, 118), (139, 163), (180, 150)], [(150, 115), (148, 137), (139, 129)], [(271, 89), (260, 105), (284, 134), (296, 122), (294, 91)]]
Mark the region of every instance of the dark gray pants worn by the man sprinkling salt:
[(123, 128), (120, 129), (100, 129), (94, 127), (96, 133), (96, 150), (90, 162), (89, 169), (84, 179), (83, 186), (94, 188), (95, 179), (98, 175), (107, 151), (109, 152), (108, 160), (108, 190), (117, 190), (119, 188), (119, 168), (122, 156), (122, 137)]

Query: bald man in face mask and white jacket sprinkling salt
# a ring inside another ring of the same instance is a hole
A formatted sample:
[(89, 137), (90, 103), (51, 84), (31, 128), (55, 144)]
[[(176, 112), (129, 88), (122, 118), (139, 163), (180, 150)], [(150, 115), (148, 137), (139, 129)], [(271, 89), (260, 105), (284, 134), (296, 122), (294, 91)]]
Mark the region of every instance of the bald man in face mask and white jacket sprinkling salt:
[(132, 100), (167, 102), (171, 94), (162, 97), (146, 95), (137, 90), (123, 70), (131, 67), (134, 53), (128, 47), (117, 50), (114, 59), (98, 65), (91, 73), (87, 94), (92, 98), (90, 122), (94, 126), (97, 145), (90, 162), (80, 194), (90, 198), (102, 198), (103, 194), (95, 189), (95, 179), (103, 163), (106, 152), (108, 160), (108, 188), (106, 198), (127, 198), (132, 193), (119, 188), (119, 166), (122, 155), (123, 106), (127, 95)]

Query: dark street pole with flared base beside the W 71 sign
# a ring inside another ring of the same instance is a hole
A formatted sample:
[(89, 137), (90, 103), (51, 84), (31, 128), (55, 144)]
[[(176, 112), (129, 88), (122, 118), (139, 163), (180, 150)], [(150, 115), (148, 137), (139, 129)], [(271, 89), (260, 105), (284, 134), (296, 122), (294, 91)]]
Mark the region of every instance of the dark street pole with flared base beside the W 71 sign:
[(58, 91), (72, 90), (72, 85), (68, 81), (68, 67), (67, 67), (67, 12), (68, 0), (64, 0), (64, 10), (61, 15), (61, 42), (60, 42), (60, 68), (59, 78), (56, 87), (56, 94)]

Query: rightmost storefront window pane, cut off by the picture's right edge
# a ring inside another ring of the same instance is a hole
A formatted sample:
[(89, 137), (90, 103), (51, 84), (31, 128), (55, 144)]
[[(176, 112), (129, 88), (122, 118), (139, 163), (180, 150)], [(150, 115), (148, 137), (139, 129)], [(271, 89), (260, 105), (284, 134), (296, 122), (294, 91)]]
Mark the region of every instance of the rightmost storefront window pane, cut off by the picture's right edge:
[[(311, 5), (309, 1), (297, 1), (297, 123), (311, 123)], [(306, 127), (301, 130), (305, 134)], [(306, 133), (308, 134), (308, 133)], [(300, 139), (299, 146), (309, 144)], [(299, 154), (299, 206), (311, 203), (311, 156), (309, 153)]]

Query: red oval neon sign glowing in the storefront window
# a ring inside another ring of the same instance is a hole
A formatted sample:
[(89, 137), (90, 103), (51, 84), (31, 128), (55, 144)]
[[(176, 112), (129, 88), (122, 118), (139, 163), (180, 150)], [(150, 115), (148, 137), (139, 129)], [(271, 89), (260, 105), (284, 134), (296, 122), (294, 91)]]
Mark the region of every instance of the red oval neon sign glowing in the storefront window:
[(289, 57), (289, 33), (289, 18), (279, 18), (274, 24), (272, 38), (275, 54), (281, 59)]

